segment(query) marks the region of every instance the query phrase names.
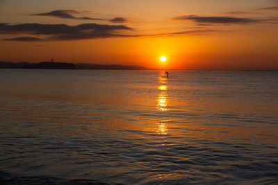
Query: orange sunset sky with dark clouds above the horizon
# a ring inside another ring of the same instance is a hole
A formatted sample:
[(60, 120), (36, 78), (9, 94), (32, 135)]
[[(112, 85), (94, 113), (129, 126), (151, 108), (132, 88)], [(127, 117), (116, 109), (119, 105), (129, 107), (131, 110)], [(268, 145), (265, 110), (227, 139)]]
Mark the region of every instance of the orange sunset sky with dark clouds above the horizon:
[(278, 0), (0, 0), (6, 62), (268, 70), (277, 35)]

